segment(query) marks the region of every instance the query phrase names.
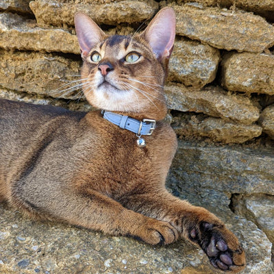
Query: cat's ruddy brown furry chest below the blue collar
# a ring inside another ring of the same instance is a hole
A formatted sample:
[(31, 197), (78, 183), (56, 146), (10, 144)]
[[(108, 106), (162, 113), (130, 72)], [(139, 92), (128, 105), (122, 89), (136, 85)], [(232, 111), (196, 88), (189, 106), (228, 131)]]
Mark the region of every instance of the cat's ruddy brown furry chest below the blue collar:
[(164, 184), (176, 147), (176, 136), (169, 126), (158, 125), (151, 136), (144, 136), (147, 145), (143, 148), (136, 144), (136, 134), (99, 116), (90, 119), (88, 128), (85, 145), (79, 150), (77, 174), (84, 184), (112, 197), (147, 182)]

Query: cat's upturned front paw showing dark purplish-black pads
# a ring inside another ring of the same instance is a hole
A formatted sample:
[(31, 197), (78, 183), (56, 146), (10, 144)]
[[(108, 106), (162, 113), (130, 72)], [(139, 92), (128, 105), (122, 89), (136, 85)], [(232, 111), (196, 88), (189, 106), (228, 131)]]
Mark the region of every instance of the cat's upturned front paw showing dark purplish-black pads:
[(216, 269), (238, 273), (245, 268), (245, 252), (236, 236), (224, 226), (201, 222), (199, 228), (190, 229), (189, 238), (206, 252)]

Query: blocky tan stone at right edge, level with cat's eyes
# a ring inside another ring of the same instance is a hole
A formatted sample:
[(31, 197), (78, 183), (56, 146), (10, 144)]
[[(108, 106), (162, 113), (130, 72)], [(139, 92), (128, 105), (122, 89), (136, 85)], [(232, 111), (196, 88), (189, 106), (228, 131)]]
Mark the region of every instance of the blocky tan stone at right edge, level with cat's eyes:
[(228, 54), (222, 62), (222, 84), (228, 90), (274, 95), (274, 55)]

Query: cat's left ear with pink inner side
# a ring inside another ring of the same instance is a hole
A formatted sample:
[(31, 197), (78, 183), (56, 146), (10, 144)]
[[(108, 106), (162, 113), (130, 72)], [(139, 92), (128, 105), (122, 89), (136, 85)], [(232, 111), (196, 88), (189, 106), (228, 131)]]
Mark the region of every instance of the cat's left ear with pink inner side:
[(86, 57), (92, 47), (105, 39), (105, 33), (84, 12), (76, 12), (74, 23), (82, 57)]

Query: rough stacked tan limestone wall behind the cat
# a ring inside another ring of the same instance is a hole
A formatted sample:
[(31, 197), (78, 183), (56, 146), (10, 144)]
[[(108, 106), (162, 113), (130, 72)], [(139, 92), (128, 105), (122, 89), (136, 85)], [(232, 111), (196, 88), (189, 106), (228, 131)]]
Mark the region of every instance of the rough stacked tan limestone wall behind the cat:
[[(182, 139), (168, 186), (212, 208), (221, 199), (274, 242), (274, 0), (1, 0), (0, 97), (91, 110), (71, 84), (82, 64), (73, 14), (129, 34), (165, 5), (177, 17), (166, 99)], [(271, 273), (260, 252), (247, 273)]]

